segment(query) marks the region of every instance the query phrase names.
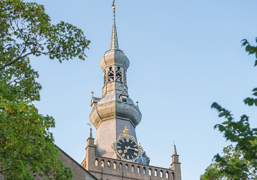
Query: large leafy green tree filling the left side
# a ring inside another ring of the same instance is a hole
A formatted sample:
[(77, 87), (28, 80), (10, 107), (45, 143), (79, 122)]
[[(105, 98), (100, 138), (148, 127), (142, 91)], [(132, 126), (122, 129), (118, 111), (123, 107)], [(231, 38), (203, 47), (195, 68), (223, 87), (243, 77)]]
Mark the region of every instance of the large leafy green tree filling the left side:
[(0, 1), (0, 175), (5, 179), (72, 179), (70, 167), (58, 160), (54, 119), (33, 105), (41, 85), (29, 55), (84, 60), (88, 41), (69, 23), (51, 24), (44, 6), (22, 0)]

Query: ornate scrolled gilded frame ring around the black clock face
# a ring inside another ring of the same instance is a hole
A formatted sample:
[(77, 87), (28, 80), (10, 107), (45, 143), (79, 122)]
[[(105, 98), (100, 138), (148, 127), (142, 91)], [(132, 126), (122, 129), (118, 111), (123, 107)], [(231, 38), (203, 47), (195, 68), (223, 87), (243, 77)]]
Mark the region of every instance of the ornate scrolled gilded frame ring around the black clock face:
[[(118, 153), (118, 150), (117, 150), (117, 143), (118, 141), (121, 139), (121, 138), (124, 138), (124, 137), (128, 137), (130, 138), (132, 141), (135, 142), (135, 144), (138, 146), (138, 156), (135, 158), (135, 159), (125, 159), (123, 158), (119, 153)], [(114, 152), (116, 152), (116, 154), (119, 156), (119, 158), (122, 160), (122, 161), (129, 161), (129, 162), (132, 162), (134, 163), (135, 160), (138, 159), (139, 156), (141, 156), (143, 154), (143, 148), (141, 146), (138, 145), (138, 143), (135, 141), (135, 137), (134, 136), (131, 136), (129, 134), (120, 134), (119, 135), (119, 138), (112, 144), (112, 148), (114, 149)]]

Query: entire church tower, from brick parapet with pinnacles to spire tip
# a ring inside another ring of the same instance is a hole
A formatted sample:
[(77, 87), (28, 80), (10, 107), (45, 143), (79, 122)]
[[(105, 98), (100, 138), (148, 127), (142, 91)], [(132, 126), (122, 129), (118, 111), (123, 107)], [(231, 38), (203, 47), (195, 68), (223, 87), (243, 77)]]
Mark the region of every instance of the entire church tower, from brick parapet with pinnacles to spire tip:
[(181, 180), (181, 163), (175, 143), (172, 164), (169, 168), (162, 168), (149, 165), (150, 158), (137, 142), (135, 128), (142, 114), (128, 95), (126, 72), (129, 60), (119, 49), (114, 1), (112, 10), (110, 49), (100, 60), (103, 93), (97, 98), (92, 92), (91, 99), (89, 118), (96, 128), (96, 136), (94, 139), (90, 128), (86, 155), (81, 166), (99, 180)]

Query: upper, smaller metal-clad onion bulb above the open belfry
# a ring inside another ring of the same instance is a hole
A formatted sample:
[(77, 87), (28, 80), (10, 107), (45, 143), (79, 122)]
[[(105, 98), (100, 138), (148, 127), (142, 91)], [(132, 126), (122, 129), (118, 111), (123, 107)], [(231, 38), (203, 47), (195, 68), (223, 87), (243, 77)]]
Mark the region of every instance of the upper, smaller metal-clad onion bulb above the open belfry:
[(126, 70), (129, 67), (129, 60), (122, 50), (110, 49), (104, 53), (104, 56), (100, 60), (100, 66), (102, 70), (108, 65), (119, 64), (123, 66)]

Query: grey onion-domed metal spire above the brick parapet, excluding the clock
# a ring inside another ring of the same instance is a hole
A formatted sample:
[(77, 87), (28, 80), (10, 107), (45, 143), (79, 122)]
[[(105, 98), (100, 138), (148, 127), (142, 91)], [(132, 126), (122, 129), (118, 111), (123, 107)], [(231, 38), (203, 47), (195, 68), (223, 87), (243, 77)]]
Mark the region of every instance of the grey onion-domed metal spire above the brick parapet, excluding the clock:
[[(96, 127), (97, 155), (108, 158), (116, 158), (116, 152), (111, 145), (123, 133), (125, 126), (137, 142), (135, 128), (142, 117), (138, 105), (136, 106), (128, 95), (126, 72), (129, 60), (119, 49), (115, 7), (113, 6), (112, 9), (113, 27), (110, 49), (100, 60), (103, 70), (103, 94), (101, 98), (92, 96), (92, 111), (89, 116), (91, 123)], [(141, 158), (138, 159), (138, 163), (142, 163)]]

